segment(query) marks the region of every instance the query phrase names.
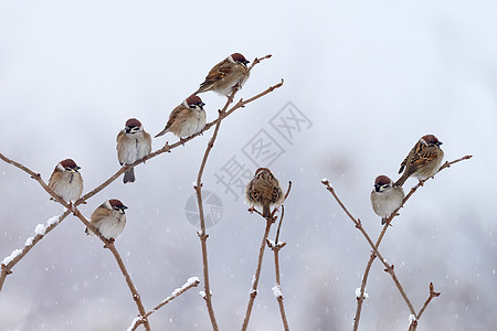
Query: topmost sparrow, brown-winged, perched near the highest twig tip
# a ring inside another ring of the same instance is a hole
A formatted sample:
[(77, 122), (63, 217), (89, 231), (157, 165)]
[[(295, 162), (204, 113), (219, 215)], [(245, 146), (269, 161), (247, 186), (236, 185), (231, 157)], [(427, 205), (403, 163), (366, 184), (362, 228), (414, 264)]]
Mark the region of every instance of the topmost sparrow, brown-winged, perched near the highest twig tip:
[(221, 95), (230, 96), (234, 88), (241, 88), (248, 78), (246, 64), (250, 61), (240, 53), (233, 53), (218, 63), (207, 75), (205, 81), (194, 93), (213, 90)]

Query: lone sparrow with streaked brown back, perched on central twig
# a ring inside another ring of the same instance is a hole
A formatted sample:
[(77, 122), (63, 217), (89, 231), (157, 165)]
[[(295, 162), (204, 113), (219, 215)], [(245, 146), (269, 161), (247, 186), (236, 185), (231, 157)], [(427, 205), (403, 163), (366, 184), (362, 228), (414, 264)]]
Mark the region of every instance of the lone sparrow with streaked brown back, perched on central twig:
[(271, 206), (279, 206), (285, 195), (271, 170), (258, 168), (254, 178), (246, 185), (245, 197), (251, 205), (263, 209), (264, 217), (271, 217)]

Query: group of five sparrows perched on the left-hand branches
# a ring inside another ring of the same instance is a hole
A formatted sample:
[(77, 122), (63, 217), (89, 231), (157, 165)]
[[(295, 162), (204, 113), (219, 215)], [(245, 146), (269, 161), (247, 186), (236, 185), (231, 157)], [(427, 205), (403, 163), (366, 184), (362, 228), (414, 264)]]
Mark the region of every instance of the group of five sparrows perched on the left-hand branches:
[[(205, 127), (205, 105), (198, 96), (204, 92), (215, 92), (230, 97), (234, 89), (240, 89), (250, 75), (250, 62), (240, 53), (234, 53), (218, 63), (207, 75), (204, 82), (191, 96), (177, 106), (169, 115), (169, 120), (162, 131), (155, 137), (172, 132), (180, 139), (200, 132)], [(144, 126), (136, 118), (126, 121), (124, 130), (117, 135), (117, 159), (121, 166), (131, 164), (144, 159), (151, 152), (151, 137), (144, 130)], [(62, 200), (73, 202), (83, 193), (83, 178), (80, 167), (72, 159), (57, 163), (49, 180), (49, 188)], [(127, 170), (124, 183), (135, 181), (134, 168)], [(91, 215), (89, 222), (107, 239), (114, 241), (126, 224), (125, 210), (119, 200), (110, 199), (99, 205)], [(86, 228), (86, 234), (95, 233)]]

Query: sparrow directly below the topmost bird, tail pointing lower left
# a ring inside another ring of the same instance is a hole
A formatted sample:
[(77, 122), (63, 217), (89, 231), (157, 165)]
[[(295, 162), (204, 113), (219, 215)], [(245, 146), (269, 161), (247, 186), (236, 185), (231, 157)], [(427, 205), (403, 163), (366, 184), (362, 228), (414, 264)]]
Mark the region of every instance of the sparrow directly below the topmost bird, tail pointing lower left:
[(172, 109), (166, 127), (156, 135), (156, 138), (166, 132), (172, 132), (180, 138), (200, 132), (205, 127), (203, 106), (205, 104), (201, 98), (195, 95), (189, 96), (181, 105)]

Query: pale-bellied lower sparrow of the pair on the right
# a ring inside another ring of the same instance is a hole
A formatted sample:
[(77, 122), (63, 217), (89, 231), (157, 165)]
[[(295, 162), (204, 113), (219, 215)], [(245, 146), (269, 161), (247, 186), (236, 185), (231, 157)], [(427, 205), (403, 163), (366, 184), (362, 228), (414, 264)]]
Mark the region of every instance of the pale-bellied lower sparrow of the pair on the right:
[(390, 178), (377, 177), (374, 189), (371, 192), (371, 205), (374, 213), (381, 217), (381, 225), (402, 204), (404, 196), (402, 186), (395, 186)]

